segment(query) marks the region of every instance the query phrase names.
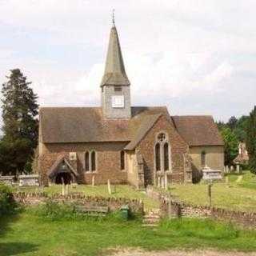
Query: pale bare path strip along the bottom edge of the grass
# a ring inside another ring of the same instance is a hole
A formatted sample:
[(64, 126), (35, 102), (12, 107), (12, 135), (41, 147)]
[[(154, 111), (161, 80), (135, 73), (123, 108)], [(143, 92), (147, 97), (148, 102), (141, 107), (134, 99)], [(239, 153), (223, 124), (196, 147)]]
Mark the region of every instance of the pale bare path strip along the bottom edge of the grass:
[(111, 256), (256, 256), (256, 253), (240, 253), (240, 252), (218, 252), (214, 250), (194, 250), (189, 251), (178, 251), (168, 250), (162, 252), (150, 251), (146, 252), (143, 250), (118, 250)]

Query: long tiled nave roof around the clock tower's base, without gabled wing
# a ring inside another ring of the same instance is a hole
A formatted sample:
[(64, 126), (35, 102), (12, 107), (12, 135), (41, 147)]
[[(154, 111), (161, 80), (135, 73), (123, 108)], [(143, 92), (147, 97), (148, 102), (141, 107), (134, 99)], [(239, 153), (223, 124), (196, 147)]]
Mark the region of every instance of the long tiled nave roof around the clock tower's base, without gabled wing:
[(131, 142), (150, 126), (150, 118), (168, 114), (166, 107), (132, 107), (130, 119), (104, 119), (100, 107), (43, 107), (39, 110), (44, 143)]

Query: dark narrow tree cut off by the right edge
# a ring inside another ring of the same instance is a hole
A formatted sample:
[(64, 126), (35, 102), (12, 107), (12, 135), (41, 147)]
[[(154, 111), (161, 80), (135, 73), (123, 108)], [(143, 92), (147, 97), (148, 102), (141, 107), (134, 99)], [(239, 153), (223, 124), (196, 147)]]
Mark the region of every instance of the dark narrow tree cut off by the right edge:
[(256, 106), (250, 112), (250, 117), (247, 122), (246, 147), (249, 154), (250, 171), (256, 174)]

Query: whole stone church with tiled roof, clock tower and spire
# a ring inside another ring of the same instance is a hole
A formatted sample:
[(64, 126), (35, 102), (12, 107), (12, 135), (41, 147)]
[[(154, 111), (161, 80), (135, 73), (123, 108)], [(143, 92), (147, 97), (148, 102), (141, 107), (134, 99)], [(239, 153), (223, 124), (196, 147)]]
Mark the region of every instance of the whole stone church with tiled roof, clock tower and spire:
[(40, 108), (38, 173), (44, 184), (109, 179), (143, 189), (196, 181), (204, 166), (224, 169), (223, 142), (211, 116), (131, 106), (132, 84), (114, 25), (98, 90), (99, 107)]

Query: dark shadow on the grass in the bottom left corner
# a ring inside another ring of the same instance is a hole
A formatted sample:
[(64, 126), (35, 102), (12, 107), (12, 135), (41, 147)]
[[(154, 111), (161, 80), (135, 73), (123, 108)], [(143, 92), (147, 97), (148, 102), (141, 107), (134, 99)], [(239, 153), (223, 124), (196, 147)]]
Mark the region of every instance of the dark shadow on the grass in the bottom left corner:
[(28, 242), (0, 242), (0, 255), (11, 256), (38, 250), (38, 245)]

